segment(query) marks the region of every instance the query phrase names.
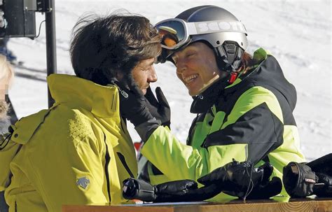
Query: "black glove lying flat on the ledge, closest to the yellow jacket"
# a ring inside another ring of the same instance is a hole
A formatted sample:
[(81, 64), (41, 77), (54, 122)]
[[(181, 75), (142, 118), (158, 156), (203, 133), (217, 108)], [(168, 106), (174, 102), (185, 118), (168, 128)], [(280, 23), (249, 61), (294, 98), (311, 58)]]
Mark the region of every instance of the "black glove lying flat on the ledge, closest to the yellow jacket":
[(195, 181), (182, 180), (151, 185), (146, 181), (128, 178), (123, 181), (123, 197), (144, 202), (202, 201), (219, 194), (215, 185), (198, 188)]

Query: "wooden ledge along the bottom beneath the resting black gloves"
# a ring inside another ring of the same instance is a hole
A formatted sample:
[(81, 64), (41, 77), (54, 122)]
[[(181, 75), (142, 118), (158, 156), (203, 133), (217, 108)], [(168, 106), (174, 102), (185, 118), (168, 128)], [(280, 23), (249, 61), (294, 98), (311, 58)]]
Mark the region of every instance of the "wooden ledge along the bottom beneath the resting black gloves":
[(223, 211), (331, 211), (332, 198), (289, 199), (287, 202), (277, 202), (274, 199), (251, 200), (243, 202), (235, 200), (225, 204), (210, 202), (186, 202), (169, 204), (137, 204), (121, 206), (62, 206), (63, 212), (223, 212)]

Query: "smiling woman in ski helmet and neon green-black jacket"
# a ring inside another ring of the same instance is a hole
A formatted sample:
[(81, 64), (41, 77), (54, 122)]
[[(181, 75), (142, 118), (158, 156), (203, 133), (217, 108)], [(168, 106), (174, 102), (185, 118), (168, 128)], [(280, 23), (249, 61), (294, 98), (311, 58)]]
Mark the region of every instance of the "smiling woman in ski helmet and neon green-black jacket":
[(141, 153), (160, 170), (149, 165), (151, 183), (197, 180), (233, 159), (270, 162), (272, 176), (282, 178), (286, 164), (305, 161), (292, 114), (296, 90), (275, 57), (261, 48), (252, 57), (245, 52), (247, 32), (233, 14), (198, 6), (155, 27), (160, 36), (177, 32), (177, 42), (162, 43), (159, 61), (174, 63), (198, 115), (187, 145), (155, 122), (136, 127)]

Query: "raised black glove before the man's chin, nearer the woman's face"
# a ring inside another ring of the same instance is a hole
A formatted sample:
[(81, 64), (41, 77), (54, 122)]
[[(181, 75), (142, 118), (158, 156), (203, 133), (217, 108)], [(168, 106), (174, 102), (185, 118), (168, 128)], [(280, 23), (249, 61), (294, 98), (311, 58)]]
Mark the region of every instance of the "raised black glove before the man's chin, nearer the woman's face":
[(160, 87), (155, 88), (155, 96), (151, 90), (151, 87), (148, 87), (146, 90), (145, 98), (146, 98), (146, 107), (148, 111), (150, 111), (151, 115), (160, 120), (162, 126), (167, 126), (170, 128), (171, 125), (171, 109), (170, 105), (167, 102), (165, 95), (162, 93)]

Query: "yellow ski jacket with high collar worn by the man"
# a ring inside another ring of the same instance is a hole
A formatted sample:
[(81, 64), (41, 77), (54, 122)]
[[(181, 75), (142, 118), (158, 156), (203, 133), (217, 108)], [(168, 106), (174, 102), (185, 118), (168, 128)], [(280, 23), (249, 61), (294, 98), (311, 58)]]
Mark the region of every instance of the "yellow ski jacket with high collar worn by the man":
[(53, 107), (17, 122), (0, 151), (0, 190), (10, 211), (126, 202), (122, 182), (137, 176), (137, 161), (117, 88), (60, 74), (48, 85)]

